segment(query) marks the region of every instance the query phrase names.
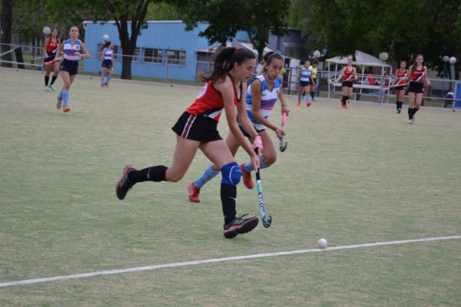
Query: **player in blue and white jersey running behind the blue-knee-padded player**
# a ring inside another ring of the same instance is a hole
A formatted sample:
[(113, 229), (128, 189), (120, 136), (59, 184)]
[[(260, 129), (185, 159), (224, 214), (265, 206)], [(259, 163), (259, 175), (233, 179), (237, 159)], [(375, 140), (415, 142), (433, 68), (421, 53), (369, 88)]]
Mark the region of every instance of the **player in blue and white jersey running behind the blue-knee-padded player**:
[[(290, 112), (288, 106), (283, 98), (283, 91), (281, 86), (281, 79), (279, 74), (283, 67), (283, 58), (274, 52), (268, 52), (264, 55), (264, 66), (259, 72), (260, 74), (253, 79), (253, 82), (248, 87), (246, 92), (246, 113), (248, 118), (252, 121), (253, 126), (259, 133), (262, 139), (263, 147), (262, 156), (259, 157), (259, 164), (261, 168), (269, 167), (274, 164), (277, 159), (277, 153), (274, 144), (270, 140), (266, 127), (275, 131), (278, 138), (280, 138), (284, 131), (280, 127), (270, 123), (267, 119), (272, 112), (277, 98), (280, 99), (282, 104), (282, 114)], [(240, 126), (242, 133), (250, 141), (252, 137)], [(233, 156), (241, 146), (239, 141), (232, 133), (227, 135), (226, 144), (231, 150)], [(241, 164), (243, 183), (248, 189), (253, 189), (253, 181), (250, 171), (254, 170), (253, 163)], [(205, 169), (203, 174), (188, 187), (189, 201), (192, 203), (199, 203), (200, 188), (205, 183), (213, 179), (219, 173), (219, 167), (215, 164), (210, 164)]]

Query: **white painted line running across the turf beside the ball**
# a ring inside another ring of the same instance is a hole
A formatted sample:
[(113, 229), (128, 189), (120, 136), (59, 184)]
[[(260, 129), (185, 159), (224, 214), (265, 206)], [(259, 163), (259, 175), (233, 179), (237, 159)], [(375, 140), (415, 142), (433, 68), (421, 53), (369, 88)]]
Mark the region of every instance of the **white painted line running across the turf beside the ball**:
[(352, 249), (352, 248), (374, 247), (374, 246), (396, 245), (396, 244), (407, 244), (407, 243), (415, 243), (415, 242), (428, 242), (428, 241), (450, 240), (450, 239), (461, 239), (461, 235), (453, 235), (453, 236), (445, 236), (445, 237), (433, 237), (433, 238), (422, 238), (422, 239), (408, 239), (408, 240), (389, 241), (389, 242), (376, 242), (376, 243), (366, 243), (366, 244), (347, 245), (347, 246), (336, 246), (336, 247), (328, 247), (328, 248), (325, 248), (325, 249), (315, 248), (315, 249), (295, 250), (295, 251), (287, 251), (287, 252), (275, 252), (275, 253), (264, 253), (264, 254), (253, 254), (253, 255), (244, 255), (244, 256), (224, 257), (224, 258), (213, 258), (213, 259), (206, 259), (206, 260), (174, 262), (172, 264), (164, 264), (164, 265), (152, 265), (152, 266), (145, 266), (145, 267), (117, 269), (117, 270), (109, 270), (109, 271), (96, 271), (96, 272), (73, 274), (73, 275), (62, 275), (62, 276), (54, 276), (54, 277), (24, 279), (24, 280), (17, 280), (17, 281), (1, 282), (0, 283), (0, 288), (16, 286), (16, 285), (19, 285), (19, 284), (38, 283), (38, 282), (46, 282), (46, 281), (54, 281), (54, 280), (74, 279), (74, 278), (83, 278), (83, 277), (91, 277), (91, 276), (99, 276), (99, 275), (112, 275), (112, 274), (120, 274), (120, 273), (156, 270), (156, 269), (162, 269), (162, 268), (175, 268), (175, 267), (184, 267), (184, 266), (194, 266), (194, 265), (200, 265), (200, 264), (209, 264), (209, 263), (213, 263), (213, 262), (224, 262), (224, 261), (232, 261), (232, 260), (272, 257), (272, 256), (281, 256), (281, 255), (316, 253), (316, 252), (336, 251), (336, 250)]

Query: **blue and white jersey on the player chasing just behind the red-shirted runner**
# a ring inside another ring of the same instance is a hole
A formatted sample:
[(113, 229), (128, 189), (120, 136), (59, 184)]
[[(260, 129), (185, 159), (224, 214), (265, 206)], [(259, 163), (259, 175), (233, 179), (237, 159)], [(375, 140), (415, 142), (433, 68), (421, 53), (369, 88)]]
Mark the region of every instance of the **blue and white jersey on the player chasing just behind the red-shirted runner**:
[[(281, 82), (280, 78), (277, 78), (274, 82), (274, 88), (270, 91), (269, 86), (267, 86), (266, 78), (264, 75), (258, 75), (255, 77), (255, 80), (259, 79), (261, 81), (261, 108), (260, 113), (264, 116), (265, 119), (269, 118), (269, 114), (274, 109), (274, 105), (279, 98), (279, 93), (281, 91)], [(253, 82), (255, 81), (253, 80)], [(252, 82), (252, 84), (253, 84)], [(246, 91), (246, 114), (248, 118), (252, 121), (255, 128), (257, 130), (264, 130), (266, 126), (258, 122), (253, 117), (253, 103), (252, 103), (252, 84), (248, 86), (248, 90)]]

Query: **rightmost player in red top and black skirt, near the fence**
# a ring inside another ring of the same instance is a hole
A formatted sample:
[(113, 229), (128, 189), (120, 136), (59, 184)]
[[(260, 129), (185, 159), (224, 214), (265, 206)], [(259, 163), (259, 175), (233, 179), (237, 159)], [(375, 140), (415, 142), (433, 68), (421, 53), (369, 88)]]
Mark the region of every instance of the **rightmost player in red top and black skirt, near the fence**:
[(427, 67), (423, 65), (423, 55), (418, 54), (414, 64), (411, 65), (408, 75), (410, 85), (408, 85), (408, 122), (414, 123), (414, 115), (420, 109), (423, 101), (424, 83), (431, 84), (427, 78)]

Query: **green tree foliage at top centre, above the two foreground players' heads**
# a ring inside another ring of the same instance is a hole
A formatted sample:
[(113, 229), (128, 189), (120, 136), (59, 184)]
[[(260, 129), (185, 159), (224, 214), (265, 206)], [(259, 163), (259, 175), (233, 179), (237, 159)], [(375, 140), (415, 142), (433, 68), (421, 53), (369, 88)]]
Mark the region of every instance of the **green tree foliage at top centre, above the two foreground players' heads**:
[(269, 32), (275, 35), (288, 33), (289, 0), (190, 0), (185, 3), (183, 20), (186, 30), (192, 30), (200, 20), (208, 20), (208, 28), (199, 35), (206, 37), (210, 45), (215, 42), (224, 44), (238, 31), (245, 31), (258, 51), (258, 58), (262, 59)]

